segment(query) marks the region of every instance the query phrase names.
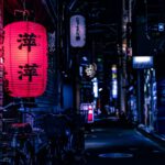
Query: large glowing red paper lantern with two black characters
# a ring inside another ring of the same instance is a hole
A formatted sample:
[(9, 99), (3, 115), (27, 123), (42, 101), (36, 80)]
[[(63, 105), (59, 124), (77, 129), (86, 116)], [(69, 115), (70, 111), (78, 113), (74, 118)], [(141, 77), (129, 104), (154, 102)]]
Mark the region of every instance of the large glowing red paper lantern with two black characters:
[(44, 26), (20, 21), (4, 28), (4, 69), (12, 97), (37, 97), (45, 91), (47, 37)]

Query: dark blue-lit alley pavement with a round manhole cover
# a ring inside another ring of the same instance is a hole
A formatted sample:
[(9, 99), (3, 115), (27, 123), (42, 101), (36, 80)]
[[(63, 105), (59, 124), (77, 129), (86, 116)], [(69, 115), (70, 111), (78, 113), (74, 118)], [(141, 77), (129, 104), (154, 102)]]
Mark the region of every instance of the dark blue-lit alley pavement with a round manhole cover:
[(85, 133), (87, 165), (164, 165), (165, 147), (116, 117), (97, 119)]

